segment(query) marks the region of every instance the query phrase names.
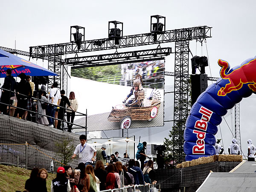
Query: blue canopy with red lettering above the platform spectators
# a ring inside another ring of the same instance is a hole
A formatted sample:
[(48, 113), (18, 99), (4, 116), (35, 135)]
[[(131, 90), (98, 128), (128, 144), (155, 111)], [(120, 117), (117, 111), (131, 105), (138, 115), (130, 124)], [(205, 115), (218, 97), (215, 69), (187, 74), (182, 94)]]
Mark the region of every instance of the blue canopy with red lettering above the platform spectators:
[(30, 76), (58, 76), (44, 67), (0, 49), (0, 77), (5, 77), (7, 69), (12, 69), (14, 77), (19, 76), (20, 73)]

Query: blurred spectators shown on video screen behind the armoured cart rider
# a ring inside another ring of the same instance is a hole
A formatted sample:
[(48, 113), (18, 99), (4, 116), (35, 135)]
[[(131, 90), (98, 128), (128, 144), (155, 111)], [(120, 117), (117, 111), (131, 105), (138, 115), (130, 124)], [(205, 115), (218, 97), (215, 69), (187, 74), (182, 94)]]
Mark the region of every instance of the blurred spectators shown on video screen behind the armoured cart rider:
[[(148, 61), (122, 65), (121, 74), (122, 79), (120, 84), (127, 86), (132, 85), (135, 77), (140, 74), (143, 78), (145, 86), (148, 88), (163, 88), (164, 62)], [(126, 82), (126, 84), (123, 82)]]

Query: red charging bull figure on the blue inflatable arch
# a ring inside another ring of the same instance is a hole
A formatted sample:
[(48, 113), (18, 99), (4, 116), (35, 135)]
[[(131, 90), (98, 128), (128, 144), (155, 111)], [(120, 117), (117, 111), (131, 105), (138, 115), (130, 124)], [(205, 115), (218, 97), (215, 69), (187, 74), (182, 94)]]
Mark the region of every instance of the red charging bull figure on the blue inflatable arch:
[(247, 64), (233, 70), (227, 75), (226, 70), (229, 66), (228, 62), (219, 59), (218, 65), (222, 67), (220, 72), (221, 78), (229, 80), (229, 83), (226, 84), (225, 87), (221, 87), (221, 89), (218, 90), (218, 96), (226, 96), (227, 93), (241, 89), (244, 84), (256, 92), (256, 59), (249, 61)]

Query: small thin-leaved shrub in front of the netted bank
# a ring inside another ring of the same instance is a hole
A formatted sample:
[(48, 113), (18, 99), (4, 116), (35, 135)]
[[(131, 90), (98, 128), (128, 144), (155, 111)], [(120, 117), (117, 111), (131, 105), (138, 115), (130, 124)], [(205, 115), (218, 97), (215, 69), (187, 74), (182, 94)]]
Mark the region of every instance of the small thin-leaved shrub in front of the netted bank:
[(75, 150), (73, 141), (68, 138), (64, 138), (60, 143), (55, 143), (55, 148), (61, 163), (67, 165), (67, 163), (72, 160), (72, 155)]

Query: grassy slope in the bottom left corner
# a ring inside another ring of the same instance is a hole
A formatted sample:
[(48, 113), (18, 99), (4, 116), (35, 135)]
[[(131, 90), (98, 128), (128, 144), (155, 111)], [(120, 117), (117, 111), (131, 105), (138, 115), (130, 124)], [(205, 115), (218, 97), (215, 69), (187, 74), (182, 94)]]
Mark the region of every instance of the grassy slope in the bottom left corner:
[[(31, 170), (13, 166), (0, 165), (0, 189), (1, 192), (24, 191), (26, 180), (29, 178)], [(47, 178), (47, 189), (51, 191), (51, 181), (55, 178), (55, 174), (49, 174)]]

